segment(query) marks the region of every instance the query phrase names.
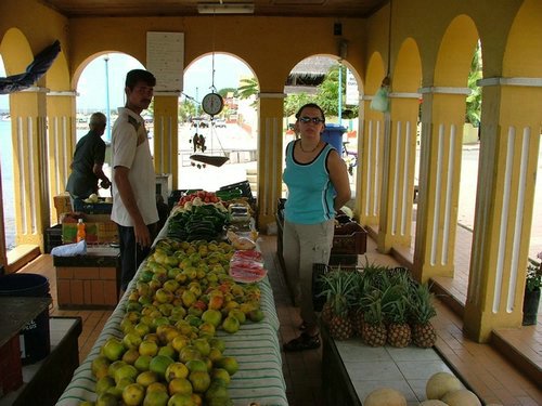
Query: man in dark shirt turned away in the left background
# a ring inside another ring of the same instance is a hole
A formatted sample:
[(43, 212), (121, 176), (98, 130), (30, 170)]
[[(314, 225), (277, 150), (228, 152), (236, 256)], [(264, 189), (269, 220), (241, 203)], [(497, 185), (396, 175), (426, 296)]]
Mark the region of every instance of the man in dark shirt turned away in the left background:
[(87, 135), (79, 140), (75, 147), (74, 160), (70, 168), (66, 191), (69, 192), (72, 209), (80, 211), (82, 200), (92, 194), (98, 194), (98, 182), (108, 188), (111, 182), (102, 170), (105, 159), (105, 142), (102, 135), (105, 131), (106, 117), (102, 113), (90, 116)]

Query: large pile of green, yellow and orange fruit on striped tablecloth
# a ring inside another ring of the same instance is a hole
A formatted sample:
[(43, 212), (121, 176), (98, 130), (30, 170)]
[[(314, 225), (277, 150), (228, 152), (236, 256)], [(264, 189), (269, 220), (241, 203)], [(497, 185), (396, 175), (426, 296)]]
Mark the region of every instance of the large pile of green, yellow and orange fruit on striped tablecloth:
[(216, 332), (263, 318), (256, 284), (228, 274), (228, 243), (159, 240), (128, 292), (120, 323), (92, 362), (93, 405), (231, 405), (238, 365)]

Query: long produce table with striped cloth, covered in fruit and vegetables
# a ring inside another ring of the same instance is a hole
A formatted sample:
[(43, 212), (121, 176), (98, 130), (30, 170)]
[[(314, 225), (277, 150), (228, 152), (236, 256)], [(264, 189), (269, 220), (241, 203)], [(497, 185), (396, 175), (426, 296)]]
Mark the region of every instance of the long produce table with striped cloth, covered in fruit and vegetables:
[(273, 293), (243, 206), (218, 192), (180, 198), (57, 405), (287, 405)]

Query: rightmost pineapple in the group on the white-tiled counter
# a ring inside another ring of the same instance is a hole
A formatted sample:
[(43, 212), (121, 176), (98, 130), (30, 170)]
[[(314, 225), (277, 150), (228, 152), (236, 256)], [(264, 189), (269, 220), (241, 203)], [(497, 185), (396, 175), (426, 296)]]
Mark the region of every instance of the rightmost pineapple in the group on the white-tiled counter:
[(437, 341), (437, 332), (429, 322), (431, 317), (437, 315), (431, 303), (433, 294), (427, 284), (411, 289), (411, 294), (412, 341), (417, 346), (428, 349)]

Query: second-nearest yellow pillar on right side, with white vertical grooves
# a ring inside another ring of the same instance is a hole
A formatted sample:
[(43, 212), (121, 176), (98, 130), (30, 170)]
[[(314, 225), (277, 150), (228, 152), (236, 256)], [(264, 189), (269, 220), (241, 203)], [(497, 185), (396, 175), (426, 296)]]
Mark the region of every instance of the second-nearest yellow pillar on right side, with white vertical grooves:
[(424, 88), (414, 273), (453, 276), (466, 88)]

